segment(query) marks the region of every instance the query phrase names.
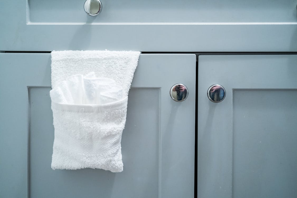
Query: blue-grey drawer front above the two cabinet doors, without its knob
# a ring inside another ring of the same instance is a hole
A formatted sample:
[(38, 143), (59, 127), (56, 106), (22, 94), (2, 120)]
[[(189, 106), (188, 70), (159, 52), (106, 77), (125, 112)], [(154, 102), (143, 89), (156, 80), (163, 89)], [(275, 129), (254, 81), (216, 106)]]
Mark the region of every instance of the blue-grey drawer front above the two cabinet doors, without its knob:
[(101, 1), (3, 1), (0, 51), (297, 51), (296, 1)]

